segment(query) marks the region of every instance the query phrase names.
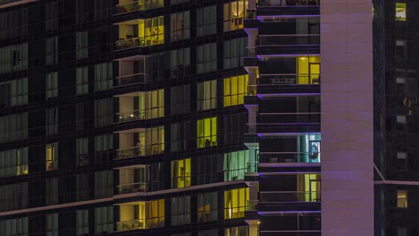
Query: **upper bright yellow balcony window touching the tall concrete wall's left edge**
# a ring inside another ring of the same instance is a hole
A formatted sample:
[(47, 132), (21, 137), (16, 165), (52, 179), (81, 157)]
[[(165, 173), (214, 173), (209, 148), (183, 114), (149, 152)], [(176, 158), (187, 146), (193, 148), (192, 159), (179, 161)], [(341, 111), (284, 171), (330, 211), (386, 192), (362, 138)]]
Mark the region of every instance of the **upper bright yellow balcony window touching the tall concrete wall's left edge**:
[(320, 83), (320, 56), (297, 58), (297, 84)]

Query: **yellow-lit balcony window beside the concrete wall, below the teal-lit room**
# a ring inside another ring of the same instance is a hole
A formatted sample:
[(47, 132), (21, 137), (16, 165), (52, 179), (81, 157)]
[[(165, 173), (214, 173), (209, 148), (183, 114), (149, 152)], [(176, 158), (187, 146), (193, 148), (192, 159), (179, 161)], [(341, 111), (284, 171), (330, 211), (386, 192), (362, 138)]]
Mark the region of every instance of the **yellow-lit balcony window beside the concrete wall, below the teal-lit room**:
[(297, 175), (297, 196), (301, 202), (320, 201), (320, 174), (305, 173)]

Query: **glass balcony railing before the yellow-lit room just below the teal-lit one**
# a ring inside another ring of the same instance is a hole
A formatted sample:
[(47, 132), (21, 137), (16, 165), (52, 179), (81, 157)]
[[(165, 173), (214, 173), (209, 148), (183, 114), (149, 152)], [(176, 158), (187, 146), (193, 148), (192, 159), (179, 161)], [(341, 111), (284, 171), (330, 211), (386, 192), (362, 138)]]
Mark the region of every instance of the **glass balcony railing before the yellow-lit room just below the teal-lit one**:
[(261, 192), (261, 203), (320, 202), (320, 192)]

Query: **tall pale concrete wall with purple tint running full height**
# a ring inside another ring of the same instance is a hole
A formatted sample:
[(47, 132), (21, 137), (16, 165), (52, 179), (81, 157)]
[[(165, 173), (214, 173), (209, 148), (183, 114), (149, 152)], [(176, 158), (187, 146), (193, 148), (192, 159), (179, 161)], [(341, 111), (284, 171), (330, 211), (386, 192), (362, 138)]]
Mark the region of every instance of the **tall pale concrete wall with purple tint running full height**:
[(374, 235), (371, 0), (322, 0), (322, 235)]

